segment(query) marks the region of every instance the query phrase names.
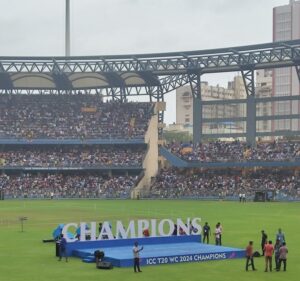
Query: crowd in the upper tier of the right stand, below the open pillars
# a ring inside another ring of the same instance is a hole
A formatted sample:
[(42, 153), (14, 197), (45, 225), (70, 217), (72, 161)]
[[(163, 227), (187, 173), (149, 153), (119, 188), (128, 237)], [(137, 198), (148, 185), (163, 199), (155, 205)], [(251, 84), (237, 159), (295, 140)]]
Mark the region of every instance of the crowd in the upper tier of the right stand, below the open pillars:
[(167, 148), (186, 161), (199, 162), (290, 161), (300, 158), (300, 143), (297, 142), (261, 142), (255, 147), (240, 141), (216, 141), (198, 145), (172, 142)]

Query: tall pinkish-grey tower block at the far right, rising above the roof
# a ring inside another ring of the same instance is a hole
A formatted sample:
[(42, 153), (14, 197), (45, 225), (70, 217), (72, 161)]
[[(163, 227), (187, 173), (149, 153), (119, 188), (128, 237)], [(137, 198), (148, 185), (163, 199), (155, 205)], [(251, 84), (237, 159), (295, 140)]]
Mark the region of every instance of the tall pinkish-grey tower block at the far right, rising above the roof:
[[(300, 1), (290, 0), (288, 5), (273, 9), (273, 41), (300, 39)], [(295, 68), (278, 68), (273, 71), (274, 96), (299, 95), (299, 80)], [(299, 101), (274, 102), (274, 115), (299, 114)], [(300, 130), (299, 119), (272, 121), (272, 131)]]

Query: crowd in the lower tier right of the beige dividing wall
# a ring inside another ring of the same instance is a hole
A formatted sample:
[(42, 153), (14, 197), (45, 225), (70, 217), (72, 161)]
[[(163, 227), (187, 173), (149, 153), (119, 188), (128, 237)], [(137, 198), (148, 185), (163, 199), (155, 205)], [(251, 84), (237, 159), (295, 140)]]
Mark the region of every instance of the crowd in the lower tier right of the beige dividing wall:
[(240, 170), (161, 170), (150, 196), (155, 198), (253, 198), (255, 191), (269, 190), (285, 198), (300, 199), (300, 177), (291, 171), (259, 170), (242, 175)]

